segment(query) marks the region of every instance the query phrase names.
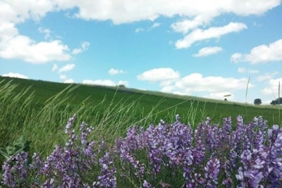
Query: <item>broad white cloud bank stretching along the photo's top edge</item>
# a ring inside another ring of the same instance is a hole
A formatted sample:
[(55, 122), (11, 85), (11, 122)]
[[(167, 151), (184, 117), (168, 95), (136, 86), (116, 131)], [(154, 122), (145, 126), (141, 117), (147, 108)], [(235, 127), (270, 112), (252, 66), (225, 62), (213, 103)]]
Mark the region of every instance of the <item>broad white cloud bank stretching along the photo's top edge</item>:
[(57, 8), (66, 9), (77, 7), (78, 11), (74, 13), (74, 17), (85, 20), (112, 20), (114, 24), (133, 23), (141, 20), (155, 20), (159, 18), (159, 16), (173, 17), (175, 15), (183, 17), (205, 15), (209, 19), (224, 13), (261, 15), (281, 3), (280, 0), (57, 0), (52, 2), (57, 3)]

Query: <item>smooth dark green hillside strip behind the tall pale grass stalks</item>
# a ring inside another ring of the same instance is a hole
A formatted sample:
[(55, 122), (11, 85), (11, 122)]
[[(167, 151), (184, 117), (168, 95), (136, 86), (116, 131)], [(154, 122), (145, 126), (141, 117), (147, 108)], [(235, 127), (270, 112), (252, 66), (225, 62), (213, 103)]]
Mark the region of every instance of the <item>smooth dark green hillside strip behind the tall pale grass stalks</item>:
[[(41, 80), (23, 80), (18, 78), (0, 77), (0, 86), (11, 82), (18, 86), (13, 92), (21, 92), (28, 88), (25, 97), (33, 94), (33, 103), (37, 106), (43, 106), (44, 103), (70, 86), (70, 84), (45, 82)], [(173, 117), (174, 113), (179, 113), (181, 117), (190, 117), (190, 113), (194, 113), (195, 122), (200, 122), (203, 117), (210, 116), (214, 118), (216, 123), (221, 122), (221, 118), (231, 116), (235, 118), (237, 115), (243, 115), (245, 120), (252, 120), (255, 116), (262, 115), (264, 119), (269, 120), (271, 124), (281, 124), (279, 122), (279, 111), (276, 107), (271, 106), (254, 106), (233, 103), (231, 101), (218, 101), (212, 99), (203, 99), (193, 96), (178, 96), (173, 94), (164, 94), (161, 92), (148, 92), (137, 89), (90, 86), (83, 84), (73, 84), (71, 92), (65, 92), (62, 96), (68, 96), (63, 104), (71, 104), (79, 106), (88, 104), (95, 106), (103, 102), (104, 106), (109, 106), (111, 102), (117, 104), (138, 103), (139, 112), (142, 114), (157, 113), (152, 120)], [(87, 101), (85, 101), (87, 99)], [(83, 102), (85, 101), (85, 102)], [(187, 119), (186, 119), (187, 120)]]

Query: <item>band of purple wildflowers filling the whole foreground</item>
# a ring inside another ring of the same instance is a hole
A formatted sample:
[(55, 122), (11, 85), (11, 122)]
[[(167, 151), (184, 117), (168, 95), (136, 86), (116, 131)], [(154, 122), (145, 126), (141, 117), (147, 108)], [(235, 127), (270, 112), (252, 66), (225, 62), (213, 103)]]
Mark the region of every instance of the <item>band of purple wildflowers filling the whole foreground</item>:
[(128, 129), (114, 146), (88, 141), (94, 130), (80, 133), (66, 125), (65, 146), (56, 146), (43, 160), (38, 154), (11, 156), (3, 165), (6, 187), (281, 187), (282, 128), (267, 127), (262, 117), (243, 123), (238, 116), (212, 120), (195, 130), (161, 120), (147, 129)]

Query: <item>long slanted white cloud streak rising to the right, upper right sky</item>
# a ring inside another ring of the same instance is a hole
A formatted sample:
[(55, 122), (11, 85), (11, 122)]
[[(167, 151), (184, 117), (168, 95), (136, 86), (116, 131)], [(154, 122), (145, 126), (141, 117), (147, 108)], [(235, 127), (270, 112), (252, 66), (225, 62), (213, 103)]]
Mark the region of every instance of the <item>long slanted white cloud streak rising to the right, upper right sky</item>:
[(178, 40), (175, 45), (177, 49), (186, 49), (195, 42), (212, 38), (219, 39), (222, 35), (230, 32), (240, 32), (246, 28), (247, 26), (243, 23), (229, 23), (223, 27), (209, 27), (207, 30), (196, 29), (186, 35), (184, 39)]

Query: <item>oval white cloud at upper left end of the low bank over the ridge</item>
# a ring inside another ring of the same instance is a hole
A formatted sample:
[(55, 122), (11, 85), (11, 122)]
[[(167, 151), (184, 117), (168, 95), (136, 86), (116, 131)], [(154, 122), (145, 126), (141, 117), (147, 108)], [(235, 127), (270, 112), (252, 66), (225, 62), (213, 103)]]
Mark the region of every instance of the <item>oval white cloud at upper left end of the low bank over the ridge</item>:
[(154, 68), (145, 71), (141, 75), (137, 75), (138, 80), (146, 80), (149, 82), (177, 80), (179, 77), (180, 73), (174, 71), (172, 68)]

